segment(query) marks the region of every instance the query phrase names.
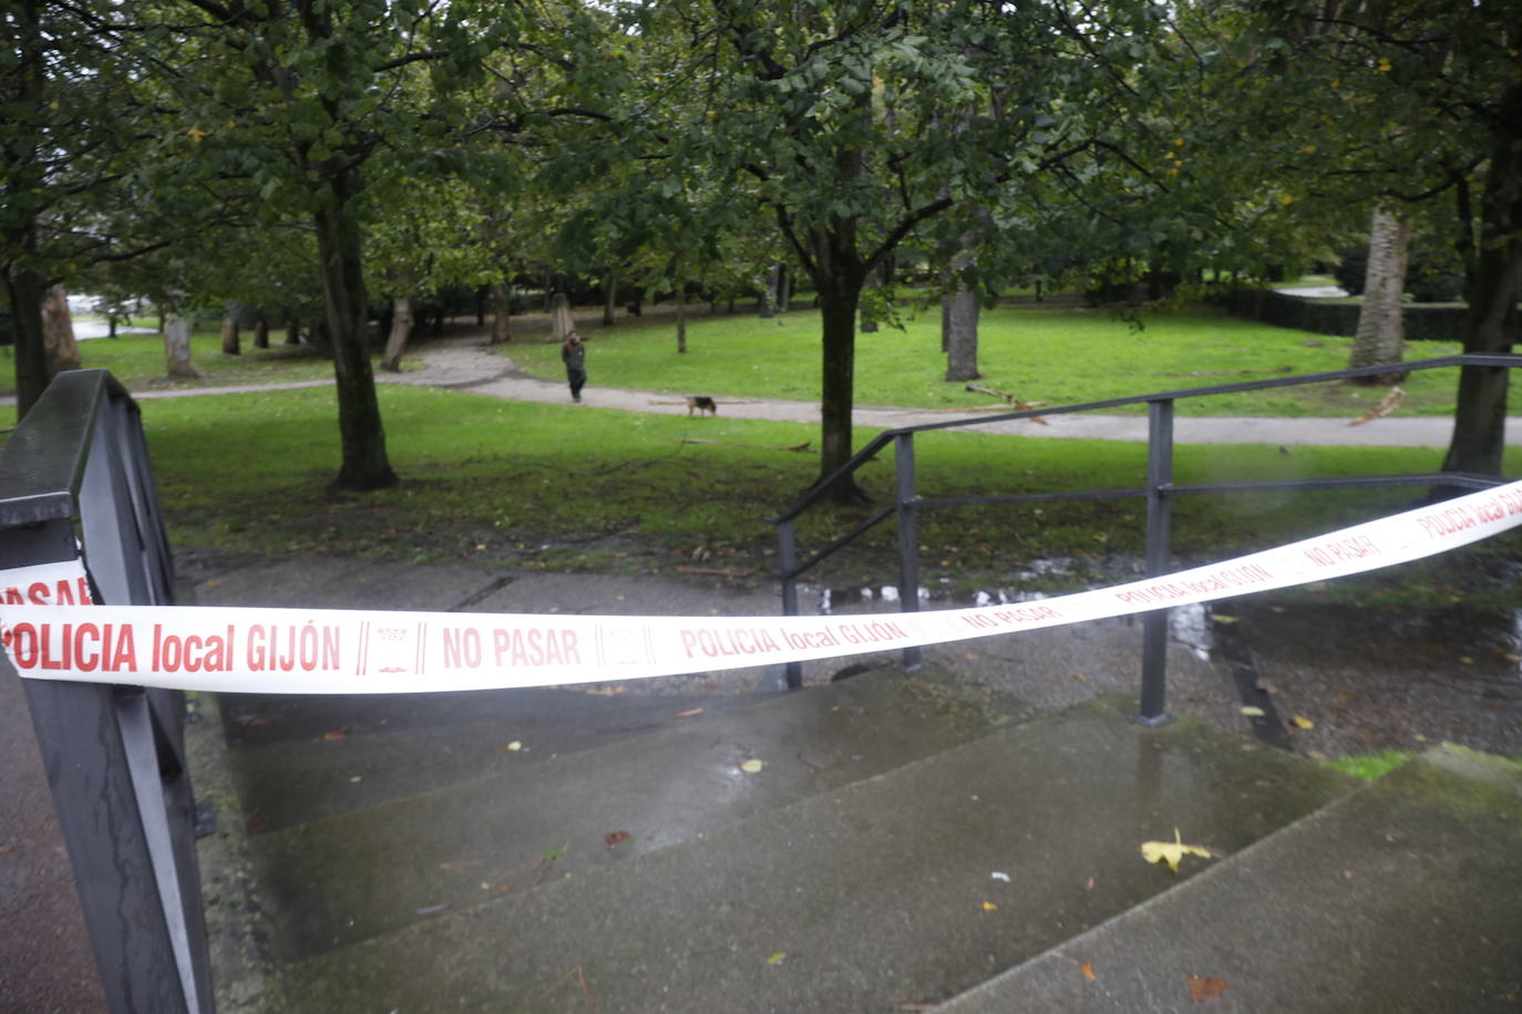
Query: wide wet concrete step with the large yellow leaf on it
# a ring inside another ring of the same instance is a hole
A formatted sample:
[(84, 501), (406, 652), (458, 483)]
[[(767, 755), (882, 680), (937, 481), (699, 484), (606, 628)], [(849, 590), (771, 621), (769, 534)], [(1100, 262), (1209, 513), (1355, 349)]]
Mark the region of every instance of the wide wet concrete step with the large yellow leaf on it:
[[(829, 728), (808, 746), (823, 756), (773, 734), (715, 739), (697, 759), (673, 753), (668, 768), (633, 757), (615, 769), (589, 766), (600, 791), (566, 812), (587, 819), (591, 841), (530, 838), (591, 853), (577, 876), (556, 868), (527, 894), (472, 883), (478, 898), (496, 900), (298, 962), (286, 971), (288, 1009), (839, 1012), (935, 1003), (1187, 880), (1189, 870), (1146, 863), (1138, 842), (1170, 839), (1178, 827), (1189, 842), (1237, 851), (1353, 787), (1320, 765), (1193, 722), (1145, 730), (1126, 719), (1131, 710), (1129, 699), (1106, 699), (1001, 728), (645, 854), (609, 853), (595, 832), (621, 827), (627, 813), (648, 818), (630, 829), (636, 836), (664, 838), (699, 791), (728, 795), (726, 815), (743, 816), (747, 797), (770, 794), (772, 780), (828, 778), (858, 746), (823, 754), (848, 733)], [(878, 742), (892, 745), (881, 731), (869, 740)], [(750, 754), (770, 763), (758, 775), (734, 772)], [(807, 771), (799, 759), (811, 762)], [(648, 795), (633, 797), (621, 777), (639, 765)], [(613, 806), (616, 816), (598, 809)], [(300, 839), (286, 838), (288, 860), (300, 860)], [(516, 860), (490, 851), (490, 833), (473, 825), (444, 838), (504, 867)], [(323, 873), (304, 882), (321, 883)], [(443, 880), (434, 856), (406, 847), (368, 873), (356, 888), (371, 898), (409, 889), (414, 876)], [(412, 891), (406, 905), (425, 897), (435, 895)], [(352, 912), (323, 915), (341, 927)]]

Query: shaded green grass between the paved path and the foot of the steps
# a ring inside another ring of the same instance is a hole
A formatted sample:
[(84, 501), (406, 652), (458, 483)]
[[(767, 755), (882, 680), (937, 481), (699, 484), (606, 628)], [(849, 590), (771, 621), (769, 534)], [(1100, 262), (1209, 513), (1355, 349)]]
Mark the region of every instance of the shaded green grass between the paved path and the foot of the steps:
[[(330, 552), (402, 561), (478, 561), (556, 570), (717, 569), (763, 579), (775, 569), (769, 517), (816, 476), (819, 459), (782, 450), (813, 426), (689, 420), (683, 414), (510, 403), (455, 391), (385, 385), (391, 461), (403, 483), (329, 497), (338, 465), (333, 395), (271, 391), (143, 401), (143, 418), (170, 524), (181, 549)], [(858, 432), (864, 442), (871, 433)], [(705, 442), (683, 442), (700, 439)], [(1125, 486), (1140, 482), (1146, 450), (1111, 441), (1046, 441), (974, 433), (925, 435), (925, 496), (976, 496)], [(1180, 480), (1358, 474), (1432, 468), (1437, 452), (1393, 448), (1183, 447)], [(1510, 465), (1522, 467), (1522, 455)], [(863, 482), (889, 496), (892, 465)], [(1400, 509), (1411, 491), (1192, 497), (1178, 505), (1181, 558), (1216, 559)], [(864, 517), (825, 509), (801, 528), (805, 552)], [(928, 587), (1009, 584), (1040, 556), (1068, 556), (1065, 581), (1103, 576), (1142, 550), (1138, 500), (1047, 503), (924, 512), (919, 541)], [(893, 529), (878, 526), (831, 561), (822, 579), (893, 581)], [(1492, 540), (1452, 559), (1487, 569)], [(1510, 544), (1514, 544), (1510, 543)], [(1091, 572), (1091, 573), (1088, 573)]]

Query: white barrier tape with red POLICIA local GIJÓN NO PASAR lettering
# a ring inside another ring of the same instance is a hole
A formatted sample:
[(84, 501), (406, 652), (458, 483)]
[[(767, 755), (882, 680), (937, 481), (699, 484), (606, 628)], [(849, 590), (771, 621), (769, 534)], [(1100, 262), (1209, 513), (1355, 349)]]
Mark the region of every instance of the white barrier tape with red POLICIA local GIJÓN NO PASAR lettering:
[(33, 680), (239, 693), (601, 683), (898, 651), (1208, 602), (1432, 556), (1517, 524), (1522, 482), (1163, 578), (1020, 605), (845, 617), (52, 605), (79, 593), (75, 562), (0, 575), (0, 637), (11, 664)]

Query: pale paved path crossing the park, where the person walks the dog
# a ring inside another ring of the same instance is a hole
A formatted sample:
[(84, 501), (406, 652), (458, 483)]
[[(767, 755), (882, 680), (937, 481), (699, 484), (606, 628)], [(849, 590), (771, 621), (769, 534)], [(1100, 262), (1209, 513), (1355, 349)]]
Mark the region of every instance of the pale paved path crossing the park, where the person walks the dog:
[[(412, 356), (423, 368), (405, 374), (377, 374), (380, 383), (406, 383), (429, 388), (455, 388), (513, 401), (571, 404), (571, 392), (560, 380), (540, 380), (517, 369), (505, 356), (489, 351), (479, 333), (435, 337), (414, 347)], [(250, 391), (289, 391), (330, 386), (330, 380), (291, 383), (177, 388), (174, 391), (142, 391), (139, 400), (183, 398), (209, 394), (244, 394)], [(583, 392), (583, 406), (618, 409), (622, 412), (683, 414), (674, 404), (677, 395), (654, 391), (597, 386), (594, 362), (592, 386)], [(718, 398), (724, 418), (772, 420), (778, 423), (819, 423), (819, 404), (813, 401), (782, 401), (773, 398)], [(15, 398), (0, 398), (0, 404), (15, 404)], [(935, 412), (925, 409), (895, 409), (857, 406), (855, 424), (866, 429), (896, 429), (979, 418), (989, 412)], [(988, 423), (974, 427), (986, 433), (1044, 436), (1068, 439), (1117, 439), (1146, 442), (1148, 423), (1142, 415), (1047, 415), (1043, 423), (1030, 420)], [(1173, 439), (1180, 444), (1280, 444), (1318, 447), (1447, 447), (1454, 432), (1449, 417), (1382, 418), (1364, 426), (1350, 426), (1344, 418), (1234, 418), (1178, 417)], [(1522, 442), (1522, 417), (1507, 423), (1507, 442)]]

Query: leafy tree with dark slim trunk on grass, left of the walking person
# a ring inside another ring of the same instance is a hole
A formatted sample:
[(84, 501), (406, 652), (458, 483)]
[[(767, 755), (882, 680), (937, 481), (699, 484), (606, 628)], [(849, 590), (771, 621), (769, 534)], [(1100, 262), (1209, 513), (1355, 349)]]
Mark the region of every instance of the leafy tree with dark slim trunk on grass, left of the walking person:
[(145, 33), (142, 55), (174, 96), (202, 181), (234, 179), (239, 198), (298, 211), (315, 234), (342, 448), (333, 485), (393, 485), (367, 334), (371, 190), (394, 175), (447, 167), (470, 116), (458, 96), (482, 81), (484, 58), (516, 36), (516, 8), (469, 0), (178, 6), (175, 21)]

